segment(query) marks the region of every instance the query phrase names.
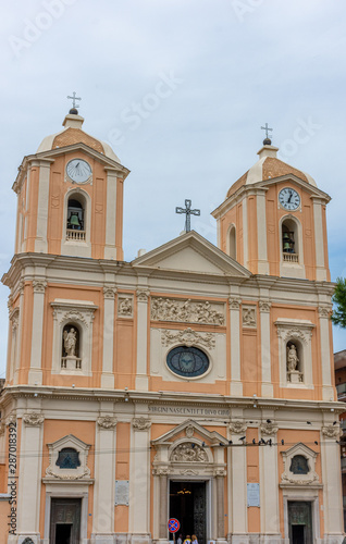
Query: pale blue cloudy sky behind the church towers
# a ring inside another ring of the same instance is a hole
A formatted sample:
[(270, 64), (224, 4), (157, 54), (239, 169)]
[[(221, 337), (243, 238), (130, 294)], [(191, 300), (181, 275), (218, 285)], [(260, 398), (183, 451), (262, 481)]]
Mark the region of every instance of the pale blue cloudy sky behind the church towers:
[[(258, 159), (273, 128), (279, 157), (314, 177), (328, 207), (332, 280), (346, 276), (346, 5), (342, 0), (16, 0), (0, 20), (0, 270), (14, 247), (11, 186), (26, 154), (61, 129), (81, 97), (83, 128), (131, 170), (124, 249), (131, 261), (184, 228), (217, 244), (210, 212)], [(8, 288), (0, 287), (0, 376)], [(334, 351), (346, 331), (334, 329)]]

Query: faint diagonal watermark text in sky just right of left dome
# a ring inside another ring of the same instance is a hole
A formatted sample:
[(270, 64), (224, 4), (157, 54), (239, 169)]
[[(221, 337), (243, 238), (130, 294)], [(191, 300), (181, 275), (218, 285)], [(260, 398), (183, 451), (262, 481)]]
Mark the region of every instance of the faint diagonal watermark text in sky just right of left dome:
[(139, 102), (132, 102), (120, 112), (120, 123), (108, 133), (108, 143), (119, 145), (125, 140), (128, 131), (136, 131), (143, 121), (150, 118), (160, 108), (163, 100), (170, 98), (184, 79), (176, 77), (172, 70), (159, 73), (160, 79), (151, 92), (147, 92)]

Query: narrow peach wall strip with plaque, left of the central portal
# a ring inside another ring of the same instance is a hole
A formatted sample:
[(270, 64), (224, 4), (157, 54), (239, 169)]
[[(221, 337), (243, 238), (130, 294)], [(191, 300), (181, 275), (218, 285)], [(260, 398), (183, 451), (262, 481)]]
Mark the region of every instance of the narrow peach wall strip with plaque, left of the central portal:
[[(129, 423), (116, 425), (116, 463), (115, 479), (129, 480)], [(128, 532), (128, 507), (115, 506), (114, 531)]]

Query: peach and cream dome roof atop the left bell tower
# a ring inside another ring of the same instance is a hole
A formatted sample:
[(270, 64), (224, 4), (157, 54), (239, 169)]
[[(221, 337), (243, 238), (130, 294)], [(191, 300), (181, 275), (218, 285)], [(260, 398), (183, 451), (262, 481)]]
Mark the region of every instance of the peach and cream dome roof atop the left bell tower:
[(40, 143), (37, 153), (50, 151), (51, 149), (59, 147), (72, 146), (73, 144), (85, 144), (99, 153), (104, 154), (104, 157), (120, 163), (119, 157), (114, 153), (113, 149), (106, 144), (106, 141), (96, 139), (82, 131), (83, 123), (84, 119), (81, 115), (76, 113), (69, 113), (62, 123), (64, 128), (59, 133), (46, 136), (46, 138), (44, 138)]

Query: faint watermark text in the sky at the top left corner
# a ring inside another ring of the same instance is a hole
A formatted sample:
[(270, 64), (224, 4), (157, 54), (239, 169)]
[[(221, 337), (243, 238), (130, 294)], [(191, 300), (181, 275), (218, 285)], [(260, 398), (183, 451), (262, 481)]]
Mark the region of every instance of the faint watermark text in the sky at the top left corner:
[(24, 51), (29, 49), (42, 35), (49, 30), (54, 21), (62, 17), (66, 7), (73, 5), (77, 0), (44, 0), (42, 10), (33, 18), (24, 18), (24, 29), (21, 36), (11, 34), (9, 44), (15, 57), (20, 59)]

